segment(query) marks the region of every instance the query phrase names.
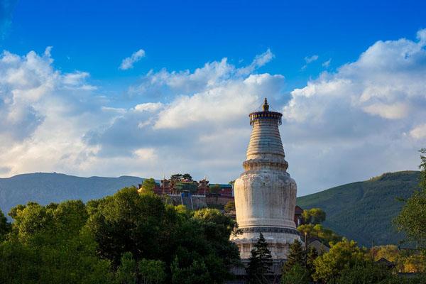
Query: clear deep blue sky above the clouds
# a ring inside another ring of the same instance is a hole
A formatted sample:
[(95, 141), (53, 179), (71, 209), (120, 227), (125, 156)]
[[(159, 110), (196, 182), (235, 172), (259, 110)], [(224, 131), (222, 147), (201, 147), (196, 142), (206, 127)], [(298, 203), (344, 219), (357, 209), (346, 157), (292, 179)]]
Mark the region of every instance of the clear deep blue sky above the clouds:
[[(84, 70), (121, 89), (148, 70), (194, 70), (229, 58), (239, 65), (271, 48), (261, 72), (302, 86), (324, 68), (356, 60), (376, 40), (414, 38), (425, 28), (422, 1), (6, 1), (16, 2), (1, 48), (15, 53), (53, 46), (55, 67)], [(11, 5), (12, 6), (12, 5)], [(143, 48), (146, 58), (120, 72)], [(304, 58), (319, 55), (305, 70)]]

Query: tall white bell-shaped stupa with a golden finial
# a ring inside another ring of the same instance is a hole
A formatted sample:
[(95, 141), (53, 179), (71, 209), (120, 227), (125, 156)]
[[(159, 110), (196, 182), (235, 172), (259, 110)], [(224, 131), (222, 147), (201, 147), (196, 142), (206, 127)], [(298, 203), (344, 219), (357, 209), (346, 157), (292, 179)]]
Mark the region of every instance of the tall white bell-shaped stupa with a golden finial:
[(262, 233), (273, 258), (284, 260), (288, 246), (300, 236), (294, 222), (296, 182), (286, 171), (278, 129), (283, 115), (269, 111), (265, 99), (263, 111), (249, 116), (253, 129), (244, 173), (234, 183), (236, 222), (242, 234), (231, 240), (239, 247), (241, 259), (247, 259)]

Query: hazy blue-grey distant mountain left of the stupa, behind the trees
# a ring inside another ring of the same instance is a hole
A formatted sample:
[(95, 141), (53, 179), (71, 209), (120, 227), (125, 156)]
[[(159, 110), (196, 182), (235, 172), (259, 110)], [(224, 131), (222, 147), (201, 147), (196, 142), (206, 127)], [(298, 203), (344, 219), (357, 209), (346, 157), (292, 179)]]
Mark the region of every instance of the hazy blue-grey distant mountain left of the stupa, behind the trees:
[(113, 195), (117, 190), (138, 185), (142, 178), (80, 178), (60, 173), (28, 173), (0, 178), (0, 209), (7, 214), (17, 204), (40, 204), (64, 200), (92, 200)]

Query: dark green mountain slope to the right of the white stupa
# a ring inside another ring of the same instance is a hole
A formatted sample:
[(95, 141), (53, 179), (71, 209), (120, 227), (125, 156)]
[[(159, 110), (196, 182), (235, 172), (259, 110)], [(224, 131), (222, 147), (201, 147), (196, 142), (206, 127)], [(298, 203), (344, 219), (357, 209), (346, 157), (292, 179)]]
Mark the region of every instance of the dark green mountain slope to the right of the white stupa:
[(321, 208), (327, 214), (324, 226), (354, 239), (363, 246), (398, 244), (403, 239), (392, 220), (403, 202), (418, 189), (420, 172), (385, 173), (363, 182), (330, 188), (297, 198), (303, 209)]

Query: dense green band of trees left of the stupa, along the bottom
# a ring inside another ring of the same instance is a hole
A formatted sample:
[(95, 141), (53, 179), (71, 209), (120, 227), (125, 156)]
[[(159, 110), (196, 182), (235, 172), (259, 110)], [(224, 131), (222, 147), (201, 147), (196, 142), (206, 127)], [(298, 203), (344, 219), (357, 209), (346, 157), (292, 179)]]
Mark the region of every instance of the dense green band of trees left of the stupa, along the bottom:
[(84, 204), (29, 202), (0, 213), (0, 283), (223, 283), (236, 223), (124, 188)]

